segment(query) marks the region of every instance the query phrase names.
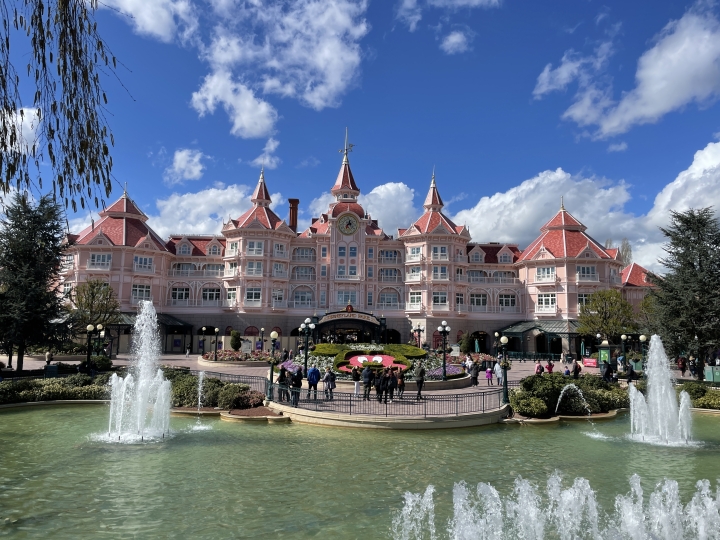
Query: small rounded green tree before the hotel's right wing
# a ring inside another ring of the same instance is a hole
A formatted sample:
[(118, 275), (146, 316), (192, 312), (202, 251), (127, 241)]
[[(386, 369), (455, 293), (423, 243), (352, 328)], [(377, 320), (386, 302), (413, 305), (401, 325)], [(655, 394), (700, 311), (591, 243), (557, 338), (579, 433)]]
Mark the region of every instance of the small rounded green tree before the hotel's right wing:
[(600, 334), (608, 340), (615, 340), (636, 327), (632, 305), (615, 289), (591, 294), (588, 302), (580, 308), (578, 323), (578, 334)]

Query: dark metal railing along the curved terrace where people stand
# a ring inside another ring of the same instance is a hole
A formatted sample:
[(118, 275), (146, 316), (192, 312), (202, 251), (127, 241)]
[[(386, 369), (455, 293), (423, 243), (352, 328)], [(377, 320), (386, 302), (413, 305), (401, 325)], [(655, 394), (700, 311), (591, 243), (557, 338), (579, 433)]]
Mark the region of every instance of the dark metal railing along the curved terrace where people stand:
[[(206, 376), (208, 375), (206, 373)], [(467, 394), (425, 394), (423, 399), (416, 400), (417, 387), (408, 385), (402, 398), (397, 393), (392, 402), (381, 403), (373, 390), (369, 401), (362, 396), (347, 392), (333, 392), (332, 401), (325, 400), (322, 390), (317, 394), (310, 394), (305, 388), (288, 388), (279, 384), (268, 383), (266, 395), (275, 401), (289, 402), (293, 393), (296, 393), (297, 407), (299, 409), (349, 415), (372, 416), (415, 416), (427, 418), (430, 416), (460, 416), (463, 414), (482, 413), (497, 410), (502, 406), (502, 389), (492, 389), (485, 392)]]

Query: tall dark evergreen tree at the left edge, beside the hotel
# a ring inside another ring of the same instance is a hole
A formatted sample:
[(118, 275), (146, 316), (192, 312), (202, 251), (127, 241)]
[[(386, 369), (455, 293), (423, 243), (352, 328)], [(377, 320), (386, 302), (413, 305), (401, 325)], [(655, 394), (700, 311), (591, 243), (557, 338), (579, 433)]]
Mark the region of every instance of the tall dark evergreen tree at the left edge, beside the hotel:
[(51, 197), (33, 205), (16, 193), (0, 221), (0, 334), (17, 347), (18, 371), (28, 346), (57, 341), (64, 313), (57, 294), (63, 212)]

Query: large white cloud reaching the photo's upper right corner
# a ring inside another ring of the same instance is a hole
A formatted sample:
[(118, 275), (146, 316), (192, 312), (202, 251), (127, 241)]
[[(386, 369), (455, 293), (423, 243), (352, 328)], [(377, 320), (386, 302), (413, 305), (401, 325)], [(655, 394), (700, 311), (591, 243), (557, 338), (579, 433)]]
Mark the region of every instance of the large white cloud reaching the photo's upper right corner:
[(548, 65), (538, 77), (536, 98), (564, 90), (578, 80), (578, 92), (563, 118), (594, 127), (598, 139), (625, 133), (633, 126), (655, 123), (666, 114), (696, 103), (707, 105), (720, 96), (720, 22), (705, 3), (698, 3), (671, 21), (638, 60), (635, 87), (613, 99), (603, 77), (605, 63), (574, 51), (556, 69)]

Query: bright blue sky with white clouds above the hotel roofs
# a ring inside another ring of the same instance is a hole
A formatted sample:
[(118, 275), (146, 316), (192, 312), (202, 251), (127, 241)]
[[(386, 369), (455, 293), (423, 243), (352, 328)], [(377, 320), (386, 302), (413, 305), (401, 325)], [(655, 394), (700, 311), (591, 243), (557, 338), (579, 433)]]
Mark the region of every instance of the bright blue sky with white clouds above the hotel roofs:
[[(347, 126), (388, 234), (446, 213), (525, 247), (566, 207), (656, 267), (670, 209), (720, 199), (713, 2), (109, 0), (116, 189), (161, 234), (217, 233), (265, 163), (275, 210), (328, 202)], [(720, 201), (718, 201), (720, 202)], [(89, 215), (73, 216), (73, 228)]]

